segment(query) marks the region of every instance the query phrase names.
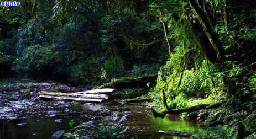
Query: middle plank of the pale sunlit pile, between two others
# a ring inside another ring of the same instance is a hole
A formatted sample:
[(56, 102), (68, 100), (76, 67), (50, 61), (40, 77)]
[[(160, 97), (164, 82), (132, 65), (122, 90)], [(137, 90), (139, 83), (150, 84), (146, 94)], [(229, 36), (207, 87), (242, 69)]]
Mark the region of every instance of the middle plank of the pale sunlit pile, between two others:
[(61, 92), (39, 92), (41, 95), (50, 95), (55, 97), (74, 97), (74, 98), (93, 98), (93, 99), (108, 99), (109, 95), (107, 94), (79, 94), (79, 93), (61, 93)]

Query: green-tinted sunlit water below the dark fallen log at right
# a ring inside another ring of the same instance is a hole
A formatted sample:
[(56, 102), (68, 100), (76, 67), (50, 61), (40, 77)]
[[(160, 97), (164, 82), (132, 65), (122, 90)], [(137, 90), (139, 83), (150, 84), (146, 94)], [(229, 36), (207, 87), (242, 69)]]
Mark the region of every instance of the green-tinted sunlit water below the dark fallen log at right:
[[(207, 129), (199, 127), (198, 124), (194, 124), (189, 121), (180, 119), (164, 119), (155, 118), (151, 114), (150, 108), (145, 106), (129, 106), (130, 109), (136, 111), (133, 115), (124, 122), (124, 124), (131, 126), (132, 130), (130, 134), (137, 136), (138, 138), (171, 138), (170, 136), (162, 135), (159, 130), (162, 131), (179, 131), (193, 134), (205, 134), (211, 132)], [(181, 137), (172, 137), (181, 138)]]

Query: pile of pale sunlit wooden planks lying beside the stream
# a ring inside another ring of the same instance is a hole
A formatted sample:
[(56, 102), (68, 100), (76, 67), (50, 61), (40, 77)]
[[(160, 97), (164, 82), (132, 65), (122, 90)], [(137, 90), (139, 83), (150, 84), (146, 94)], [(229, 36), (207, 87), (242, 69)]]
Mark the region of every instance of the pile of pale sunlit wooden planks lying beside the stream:
[(102, 102), (114, 93), (114, 89), (95, 89), (76, 93), (39, 92), (40, 98)]

